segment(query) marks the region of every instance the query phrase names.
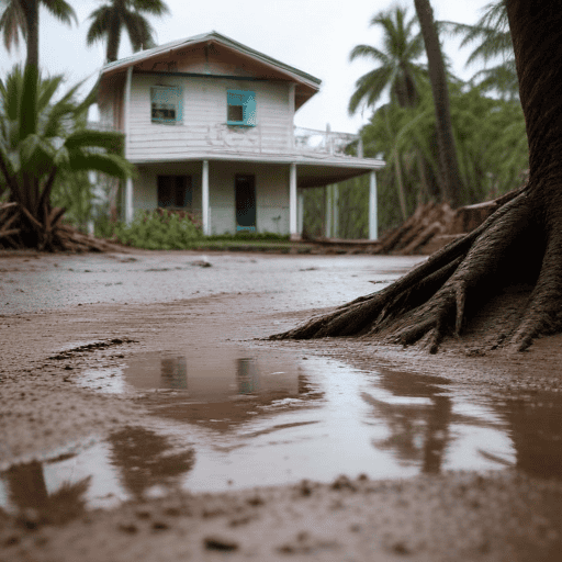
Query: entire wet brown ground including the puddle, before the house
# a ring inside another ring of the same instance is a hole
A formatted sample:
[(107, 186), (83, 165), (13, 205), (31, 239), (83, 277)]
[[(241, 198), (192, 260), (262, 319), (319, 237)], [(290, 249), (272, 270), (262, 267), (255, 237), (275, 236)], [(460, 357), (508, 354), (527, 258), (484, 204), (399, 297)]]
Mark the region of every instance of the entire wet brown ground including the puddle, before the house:
[(0, 560), (558, 560), (560, 338), (262, 339), (416, 260), (4, 258)]

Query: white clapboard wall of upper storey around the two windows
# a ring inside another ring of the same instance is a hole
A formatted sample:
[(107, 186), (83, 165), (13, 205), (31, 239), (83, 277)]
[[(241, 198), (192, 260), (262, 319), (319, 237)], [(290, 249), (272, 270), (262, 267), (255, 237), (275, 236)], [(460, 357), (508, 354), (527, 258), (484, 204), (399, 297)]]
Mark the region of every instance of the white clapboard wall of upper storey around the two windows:
[[(153, 123), (150, 87), (182, 89), (182, 122)], [(226, 91), (256, 92), (257, 126), (226, 125)], [(128, 156), (132, 160), (189, 158), (190, 153), (282, 154), (291, 149), (293, 123), (286, 82), (170, 75), (133, 75)]]

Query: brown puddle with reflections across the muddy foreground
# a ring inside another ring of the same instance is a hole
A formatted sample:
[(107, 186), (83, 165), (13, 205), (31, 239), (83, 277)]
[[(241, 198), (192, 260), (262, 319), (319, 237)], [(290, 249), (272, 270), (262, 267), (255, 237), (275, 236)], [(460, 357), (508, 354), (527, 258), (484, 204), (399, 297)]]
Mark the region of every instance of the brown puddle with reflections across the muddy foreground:
[(342, 473), (516, 467), (560, 477), (562, 465), (554, 394), (479, 397), (442, 378), (243, 347), (139, 353), (123, 367), (86, 371), (80, 384), (133, 396), (149, 423), (4, 471), (7, 510), (46, 502), (111, 507), (175, 490), (328, 482)]

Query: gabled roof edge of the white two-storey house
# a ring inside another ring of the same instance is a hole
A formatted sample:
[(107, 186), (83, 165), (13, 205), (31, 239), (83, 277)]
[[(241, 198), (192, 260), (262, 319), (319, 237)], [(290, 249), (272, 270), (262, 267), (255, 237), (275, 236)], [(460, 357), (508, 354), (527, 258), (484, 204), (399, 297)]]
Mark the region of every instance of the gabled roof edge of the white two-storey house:
[(192, 37), (187, 37), (183, 40), (171, 41), (164, 45), (159, 45), (157, 47), (140, 50), (131, 55), (130, 57), (121, 58), (113, 63), (108, 63), (101, 69), (101, 78), (103, 76), (108, 76), (110, 74), (119, 72), (125, 70), (127, 67), (132, 65), (137, 65), (148, 59), (155, 59), (162, 56), (169, 56), (175, 50), (181, 50), (186, 47), (193, 47), (195, 45), (210, 45), (210, 44), (218, 44), (227, 49), (236, 52), (241, 57), (246, 57), (251, 59), (258, 66), (262, 66), (269, 70), (274, 70), (276, 75), (286, 79), (288, 81), (293, 81), (296, 83), (296, 106), (302, 105), (306, 100), (308, 100), (312, 95), (314, 95), (318, 90), (322, 80), (319, 78), (315, 78), (314, 76), (303, 72), (297, 68), (285, 65), (280, 60), (277, 60), (263, 53), (255, 50), (237, 41), (234, 41), (216, 31), (212, 31), (210, 33), (203, 33), (200, 35), (194, 35)]

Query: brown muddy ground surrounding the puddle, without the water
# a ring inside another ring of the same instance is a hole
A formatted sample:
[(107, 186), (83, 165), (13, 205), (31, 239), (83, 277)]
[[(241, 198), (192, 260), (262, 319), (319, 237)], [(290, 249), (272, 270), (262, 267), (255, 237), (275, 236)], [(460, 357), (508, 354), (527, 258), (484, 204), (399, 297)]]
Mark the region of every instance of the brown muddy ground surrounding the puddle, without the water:
[[(562, 417), (555, 396), (562, 389), (562, 338), (544, 338), (525, 353), (488, 351), (477, 328), (499, 322), (493, 316), (476, 318), (467, 338), (448, 342), (437, 356), (366, 340), (263, 339), (384, 286), (420, 259), (4, 252), (4, 480), (13, 467), (69, 456), (72, 443), (142, 425), (151, 415), (145, 403), (83, 387), (82, 373), (186, 342), (244, 342), (333, 357), (367, 371), (446, 378), (469, 394), (520, 403), (521, 416), (509, 418), (516, 462), (490, 472), (434, 471), (382, 481), (352, 473), (324, 483), (183, 491), (93, 510), (76, 490), (63, 487), (56, 498), (0, 510), (0, 561), (560, 560)], [(506, 296), (499, 308), (518, 299)], [(537, 422), (529, 412), (543, 412), (544, 404), (553, 414)]]

